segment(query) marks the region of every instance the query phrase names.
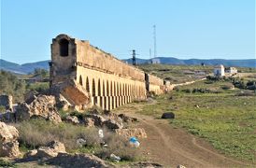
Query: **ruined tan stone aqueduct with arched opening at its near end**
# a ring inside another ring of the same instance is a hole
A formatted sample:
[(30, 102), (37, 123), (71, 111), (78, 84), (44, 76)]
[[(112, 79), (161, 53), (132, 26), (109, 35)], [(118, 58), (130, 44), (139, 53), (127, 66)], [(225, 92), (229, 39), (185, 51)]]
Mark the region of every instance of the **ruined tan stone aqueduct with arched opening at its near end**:
[(163, 92), (164, 81), (68, 35), (52, 39), (50, 87), (79, 108), (111, 110)]

